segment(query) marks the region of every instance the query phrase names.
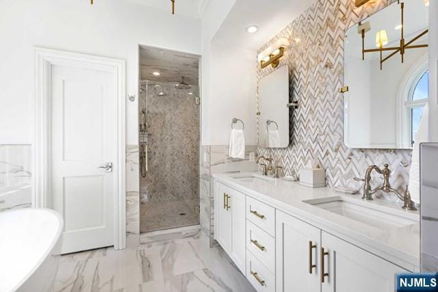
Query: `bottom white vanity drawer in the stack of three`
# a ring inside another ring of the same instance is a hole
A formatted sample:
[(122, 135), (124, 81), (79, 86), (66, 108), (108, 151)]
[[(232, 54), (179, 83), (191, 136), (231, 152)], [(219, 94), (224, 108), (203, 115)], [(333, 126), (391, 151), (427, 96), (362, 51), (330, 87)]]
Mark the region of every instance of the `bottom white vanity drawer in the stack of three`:
[(246, 278), (258, 292), (275, 292), (275, 276), (250, 252), (246, 252)]

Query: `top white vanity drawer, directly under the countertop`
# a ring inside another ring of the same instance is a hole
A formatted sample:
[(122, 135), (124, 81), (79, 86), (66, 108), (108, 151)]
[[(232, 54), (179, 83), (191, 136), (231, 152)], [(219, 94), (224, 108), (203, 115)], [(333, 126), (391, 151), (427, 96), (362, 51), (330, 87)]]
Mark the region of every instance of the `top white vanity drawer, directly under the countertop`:
[(275, 237), (275, 209), (273, 207), (247, 196), (246, 219)]

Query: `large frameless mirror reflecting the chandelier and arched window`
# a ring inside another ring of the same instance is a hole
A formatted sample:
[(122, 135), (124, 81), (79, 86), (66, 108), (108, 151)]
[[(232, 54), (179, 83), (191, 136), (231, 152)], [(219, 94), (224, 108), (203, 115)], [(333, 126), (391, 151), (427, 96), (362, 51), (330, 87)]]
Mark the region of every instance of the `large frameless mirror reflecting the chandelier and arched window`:
[[(428, 102), (427, 29), (428, 8), (423, 0), (394, 2), (348, 29), (344, 46), (346, 146), (412, 147)], [(402, 34), (404, 41), (400, 41)]]

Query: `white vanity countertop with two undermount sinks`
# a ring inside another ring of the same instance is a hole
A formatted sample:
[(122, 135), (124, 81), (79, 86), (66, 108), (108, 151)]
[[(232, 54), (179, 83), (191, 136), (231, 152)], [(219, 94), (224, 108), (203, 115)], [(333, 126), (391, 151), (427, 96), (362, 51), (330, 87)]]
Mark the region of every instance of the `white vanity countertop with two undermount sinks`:
[[(417, 271), (420, 267), (420, 223), (383, 230), (302, 202), (303, 200), (332, 196), (347, 197), (363, 202), (360, 194), (342, 194), (331, 187), (313, 189), (301, 186), (298, 182), (286, 181), (283, 178), (276, 178), (274, 181), (261, 179), (242, 181), (233, 178), (236, 175), (214, 174), (213, 176), (216, 181), (239, 189), (248, 196), (270, 204), (280, 211), (289, 213), (289, 215), (294, 215), (409, 271)], [(370, 207), (374, 205), (392, 208), (394, 213), (406, 212), (400, 206), (385, 200), (376, 199), (366, 203), (370, 204)], [(413, 213), (411, 217), (414, 217), (415, 220), (420, 220), (418, 211), (409, 211), (409, 213)]]

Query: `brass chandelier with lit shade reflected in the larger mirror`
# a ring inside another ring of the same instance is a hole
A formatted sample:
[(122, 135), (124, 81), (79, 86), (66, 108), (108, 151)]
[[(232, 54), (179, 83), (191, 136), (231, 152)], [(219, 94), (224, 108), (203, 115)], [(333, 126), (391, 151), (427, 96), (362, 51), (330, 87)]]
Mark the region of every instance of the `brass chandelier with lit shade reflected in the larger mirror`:
[[(419, 48), (428, 47), (428, 44), (413, 44), (413, 42), (417, 41), (422, 36), (426, 35), (428, 33), (428, 29), (424, 30), (421, 34), (415, 36), (415, 38), (413, 38), (409, 42), (406, 42), (406, 40), (404, 39), (404, 2), (399, 1), (398, 4), (400, 5), (400, 10), (402, 12), (402, 24), (400, 27), (402, 36), (400, 38), (400, 46), (384, 47), (386, 44), (388, 44), (389, 40), (388, 40), (387, 32), (385, 31), (385, 29), (382, 29), (381, 31), (378, 31), (378, 33), (376, 34), (376, 47), (378, 47), (378, 49), (365, 49), (365, 33), (370, 31), (371, 29), (370, 22), (363, 24), (359, 23), (359, 26), (357, 28), (358, 33), (361, 34), (362, 36), (362, 60), (365, 60), (365, 53), (379, 52), (381, 54), (381, 62), (380, 62), (381, 70), (383, 68), (383, 62), (387, 61), (388, 59), (396, 55), (396, 53), (400, 52), (400, 55), (402, 57), (402, 63), (404, 63), (404, 54), (406, 53), (407, 49), (419, 49)], [(383, 57), (383, 51), (392, 51), (392, 53), (390, 53), (386, 57)]]

